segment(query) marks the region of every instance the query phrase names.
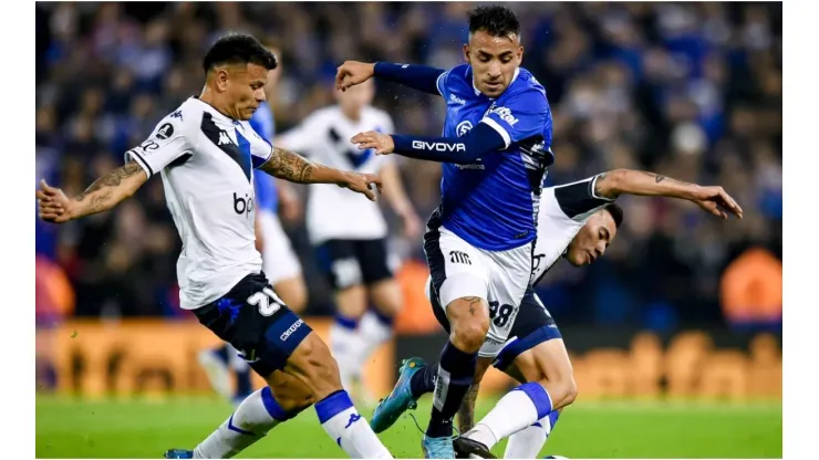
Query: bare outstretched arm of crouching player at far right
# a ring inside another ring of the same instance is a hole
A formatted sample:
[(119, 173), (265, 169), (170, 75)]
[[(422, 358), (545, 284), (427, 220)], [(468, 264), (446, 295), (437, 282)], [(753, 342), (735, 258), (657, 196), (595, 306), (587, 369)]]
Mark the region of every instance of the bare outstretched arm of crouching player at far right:
[(603, 172), (594, 182), (594, 192), (610, 199), (620, 195), (678, 198), (693, 201), (723, 219), (728, 218), (723, 209), (743, 218), (743, 208), (722, 187), (704, 187), (649, 171), (614, 169)]

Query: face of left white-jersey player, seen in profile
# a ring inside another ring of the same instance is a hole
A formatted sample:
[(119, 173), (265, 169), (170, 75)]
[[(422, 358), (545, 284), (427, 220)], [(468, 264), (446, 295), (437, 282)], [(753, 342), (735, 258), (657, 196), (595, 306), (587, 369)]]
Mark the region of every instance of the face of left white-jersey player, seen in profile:
[[(221, 80), (222, 76), (219, 75)], [(236, 119), (250, 119), (259, 108), (265, 96), (265, 85), (268, 82), (268, 70), (262, 65), (249, 63), (247, 65), (231, 65), (226, 67), (225, 81), (220, 81), (224, 87), (228, 105), (230, 105), (232, 117)]]

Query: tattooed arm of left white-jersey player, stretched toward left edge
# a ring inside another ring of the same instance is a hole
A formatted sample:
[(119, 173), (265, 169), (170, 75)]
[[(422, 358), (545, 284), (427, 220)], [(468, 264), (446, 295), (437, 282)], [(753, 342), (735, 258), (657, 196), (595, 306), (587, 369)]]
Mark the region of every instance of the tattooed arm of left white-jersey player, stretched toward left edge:
[(63, 223), (107, 211), (134, 195), (146, 180), (148, 175), (145, 169), (133, 160), (96, 179), (75, 198), (66, 197), (61, 189), (41, 180), (37, 190), (40, 218), (46, 222)]

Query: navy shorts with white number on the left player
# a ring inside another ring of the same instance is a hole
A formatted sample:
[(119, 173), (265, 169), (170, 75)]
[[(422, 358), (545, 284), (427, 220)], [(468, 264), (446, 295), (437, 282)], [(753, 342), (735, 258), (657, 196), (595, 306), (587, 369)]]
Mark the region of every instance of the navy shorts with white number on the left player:
[(262, 377), (283, 368), (312, 331), (276, 295), (265, 273), (247, 275), (225, 296), (194, 313)]

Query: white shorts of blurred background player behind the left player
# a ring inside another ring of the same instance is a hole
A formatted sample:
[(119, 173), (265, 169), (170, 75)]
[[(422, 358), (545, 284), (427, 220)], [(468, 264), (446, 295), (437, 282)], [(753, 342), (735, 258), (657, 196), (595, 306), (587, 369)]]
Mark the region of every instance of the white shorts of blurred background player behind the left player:
[(276, 285), (279, 281), (300, 275), (301, 263), (281, 227), (279, 216), (272, 212), (259, 212), (257, 219), (261, 223), (263, 236), (261, 266), (270, 284)]

